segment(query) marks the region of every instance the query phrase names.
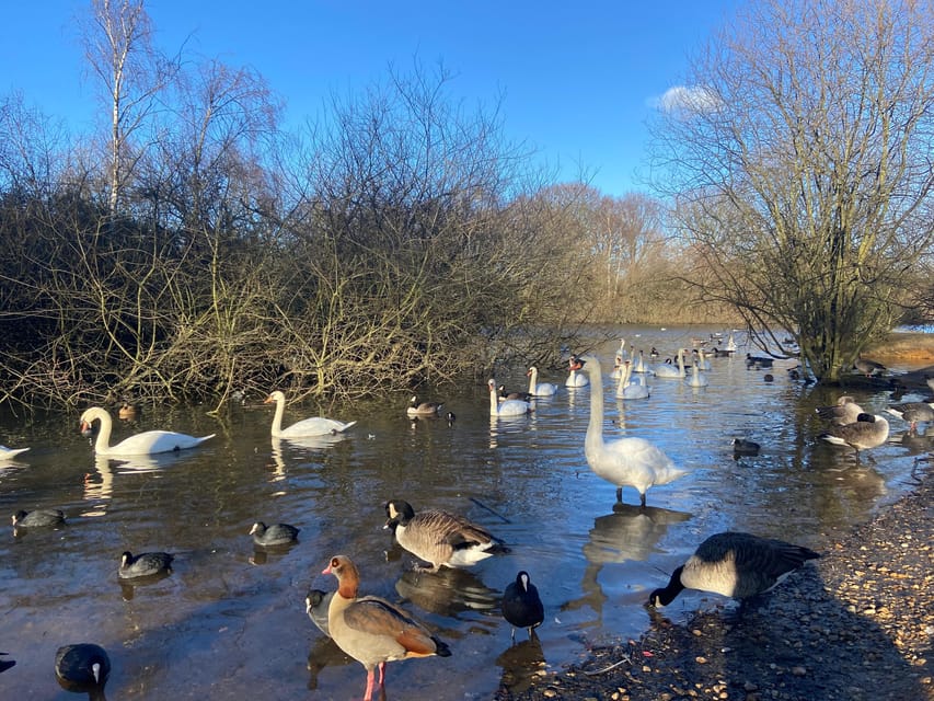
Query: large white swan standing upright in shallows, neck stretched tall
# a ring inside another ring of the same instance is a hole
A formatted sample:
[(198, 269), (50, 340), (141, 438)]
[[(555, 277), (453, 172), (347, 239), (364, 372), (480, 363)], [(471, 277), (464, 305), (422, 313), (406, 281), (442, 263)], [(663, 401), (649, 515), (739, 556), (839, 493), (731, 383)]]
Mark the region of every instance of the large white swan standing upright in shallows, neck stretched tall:
[(645, 438), (619, 438), (603, 441), (603, 382), (600, 361), (592, 356), (580, 358), (584, 371), (590, 376), (590, 423), (584, 439), (584, 455), (590, 469), (616, 485), (616, 501), (623, 501), (623, 487), (634, 486), (639, 502), (645, 506), (645, 492), (656, 484), (668, 484), (687, 470), (674, 466), (671, 459)]

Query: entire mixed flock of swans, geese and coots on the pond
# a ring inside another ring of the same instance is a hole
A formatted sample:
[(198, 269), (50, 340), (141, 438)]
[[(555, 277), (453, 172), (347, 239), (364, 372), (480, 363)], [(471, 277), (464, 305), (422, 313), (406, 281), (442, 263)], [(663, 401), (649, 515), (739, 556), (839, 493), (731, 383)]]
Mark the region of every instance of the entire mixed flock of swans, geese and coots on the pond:
[[(626, 400), (648, 399), (650, 388), (643, 379), (648, 377), (659, 380), (683, 379), (695, 388), (707, 386), (704, 371), (710, 369), (710, 363), (703, 349), (693, 353), (691, 371), (688, 372), (683, 349), (679, 349), (670, 361), (647, 364), (642, 352), (627, 357), (624, 344), (621, 344), (616, 354), (612, 375), (616, 380), (616, 397)], [(731, 350), (715, 352), (713, 355), (724, 353)], [(657, 359), (655, 348), (649, 357)], [(771, 367), (771, 359), (748, 355), (747, 367)], [(866, 365), (865, 370), (863, 367), (858, 369), (870, 374), (879, 371), (878, 367), (869, 365)], [(634, 379), (634, 374), (641, 378)], [(530, 378), (527, 392), (506, 392), (495, 379), (489, 379), (492, 417), (528, 414), (533, 411), (535, 398), (551, 397), (560, 391), (557, 384), (540, 382), (534, 366), (529, 368), (527, 375)], [(604, 439), (603, 378), (599, 358), (592, 355), (573, 356), (565, 387), (589, 388), (590, 416), (584, 437), (584, 453), (593, 473), (616, 487), (618, 502), (622, 502), (624, 487), (633, 487), (639, 495), (641, 507), (645, 508), (646, 493), (650, 487), (668, 484), (689, 472), (645, 438)], [(277, 438), (333, 435), (346, 432), (356, 424), (313, 417), (282, 428), (285, 394), (280, 391), (272, 392), (266, 403), (276, 404), (270, 433)], [(443, 403), (419, 402), (413, 397), (406, 414), (412, 417), (440, 415)], [(934, 422), (934, 402), (892, 405), (886, 411), (909, 423), (911, 430), (920, 422)], [(120, 415), (126, 414), (128, 417), (127, 412), (129, 407), (125, 405)], [(846, 445), (861, 451), (881, 445), (888, 438), (888, 422), (880, 415), (864, 412), (852, 397), (842, 397), (832, 406), (818, 407), (817, 413), (828, 424), (819, 437), (829, 443)], [(448, 414), (448, 420), (452, 422), (453, 415)], [(148, 430), (111, 445), (113, 423), (109, 413), (102, 407), (87, 410), (80, 418), (82, 434), (90, 435), (94, 424), (97, 425), (94, 451), (101, 456), (174, 452), (196, 448), (214, 437)], [(758, 444), (745, 438), (734, 439), (733, 446), (737, 458), (754, 456), (760, 450)], [(0, 447), (0, 459), (12, 459), (26, 450), (28, 448)], [(430, 508), (416, 512), (402, 499), (391, 499), (384, 507), (384, 527), (393, 531), (395, 541), (403, 549), (427, 563), (418, 565), (419, 571), (437, 573), (441, 567), (470, 567), (494, 554), (509, 552), (506, 544), (486, 528), (457, 514)], [(57, 528), (64, 522), (65, 515), (58, 509), (19, 510), (13, 515), (14, 528)], [(275, 524), (267, 527), (263, 521), (256, 521), (249, 532), (256, 548), (270, 549), (289, 547), (297, 541), (298, 533), (299, 529), (293, 526)], [(807, 548), (750, 533), (715, 533), (704, 540), (695, 553), (671, 574), (667, 586), (652, 593), (647, 604), (652, 607), (667, 606), (682, 589), (691, 588), (737, 599), (741, 604), (741, 611), (747, 600), (770, 590), (792, 571), (819, 556)], [(126, 551), (120, 556), (118, 576), (122, 579), (165, 576), (171, 573), (172, 562), (171, 553), (145, 552), (134, 555)], [(310, 589), (305, 599), (307, 613), (341, 650), (365, 667), (366, 700), (372, 698), (377, 687), (383, 687), (388, 662), (451, 654), (447, 643), (400, 607), (376, 596), (361, 596), (359, 571), (348, 555), (333, 555), (322, 574), (334, 575), (337, 588), (330, 593)], [(528, 630), (529, 635), (533, 636), (535, 628), (544, 621), (542, 599), (524, 570), (504, 588), (499, 605), (503, 617), (512, 627), (514, 637), (517, 628)], [(4, 667), (10, 665), (7, 663)], [(106, 652), (95, 644), (68, 645), (56, 655), (55, 675), (66, 689), (102, 696), (109, 671), (111, 662)]]

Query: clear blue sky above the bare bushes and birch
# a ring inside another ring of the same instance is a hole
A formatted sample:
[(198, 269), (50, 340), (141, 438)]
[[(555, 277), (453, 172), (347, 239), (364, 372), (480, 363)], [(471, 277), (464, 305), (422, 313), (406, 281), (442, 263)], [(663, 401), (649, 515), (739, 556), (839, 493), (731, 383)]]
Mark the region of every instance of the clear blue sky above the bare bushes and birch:
[[(683, 83), (689, 54), (741, 0), (570, 3), (353, 0), (149, 0), (157, 44), (250, 66), (298, 125), (346, 93), (442, 60), (449, 89), (468, 104), (503, 96), (507, 136), (560, 166), (580, 169), (608, 195), (643, 191), (645, 120), (654, 101)], [(0, 95), (91, 130), (99, 85), (85, 74), (74, 18), (90, 0), (4, 3)]]

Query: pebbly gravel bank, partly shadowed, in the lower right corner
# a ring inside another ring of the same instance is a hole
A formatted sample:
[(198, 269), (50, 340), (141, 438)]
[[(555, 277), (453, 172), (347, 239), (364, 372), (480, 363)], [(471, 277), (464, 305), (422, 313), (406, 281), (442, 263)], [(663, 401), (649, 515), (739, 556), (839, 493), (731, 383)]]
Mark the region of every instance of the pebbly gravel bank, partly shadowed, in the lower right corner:
[[(752, 607), (682, 622), (677, 600), (638, 641), (589, 651), (498, 701), (934, 701), (934, 471), (872, 521), (827, 533), (808, 563)], [(922, 474), (923, 473), (923, 474)], [(713, 600), (720, 600), (712, 597)], [(726, 613), (726, 616), (725, 616)]]

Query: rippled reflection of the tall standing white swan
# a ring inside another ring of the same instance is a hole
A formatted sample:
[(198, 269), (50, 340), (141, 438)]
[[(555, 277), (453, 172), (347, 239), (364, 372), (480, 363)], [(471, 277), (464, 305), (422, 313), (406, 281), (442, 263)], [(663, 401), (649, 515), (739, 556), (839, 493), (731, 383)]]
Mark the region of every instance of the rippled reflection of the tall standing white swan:
[(602, 619), (603, 604), (608, 600), (600, 586), (599, 576), (607, 564), (627, 561), (646, 561), (656, 551), (668, 527), (691, 518), (690, 514), (657, 506), (637, 506), (616, 503), (613, 513), (593, 520), (584, 555), (587, 565), (580, 582), (584, 596), (565, 604), (564, 610), (590, 607)]

